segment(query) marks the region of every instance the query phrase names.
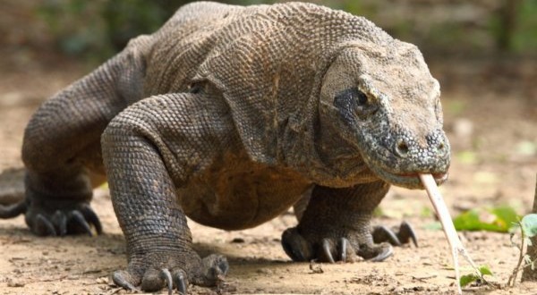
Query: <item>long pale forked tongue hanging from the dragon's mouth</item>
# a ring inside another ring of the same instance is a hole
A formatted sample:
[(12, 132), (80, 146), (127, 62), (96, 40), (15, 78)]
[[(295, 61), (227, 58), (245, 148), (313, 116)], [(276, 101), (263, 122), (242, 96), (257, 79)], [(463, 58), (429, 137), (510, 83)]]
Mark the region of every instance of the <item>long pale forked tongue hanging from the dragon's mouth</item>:
[(459, 240), (458, 235), (456, 234), (455, 226), (453, 225), (453, 220), (451, 220), (451, 215), (447, 211), (446, 203), (440, 194), (439, 187), (434, 181), (434, 177), (431, 174), (420, 174), (420, 180), (427, 190), (427, 195), (429, 196), (430, 202), (434, 207), (437, 215), (439, 216), (440, 223), (442, 223), (442, 229), (446, 234), (447, 241), (449, 242), (449, 247), (451, 248), (451, 256), (453, 257), (453, 266), (455, 268), (455, 277), (456, 277), (456, 287), (457, 292), (462, 294), (461, 282), (460, 282), (460, 271), (458, 265), (458, 256), (459, 254), (465, 257), (466, 261), (472, 265), (473, 269), (477, 274), (482, 278), (482, 274), (479, 271), (479, 268), (475, 263), (473, 263), (472, 258), (466, 252), (465, 247), (461, 240)]

